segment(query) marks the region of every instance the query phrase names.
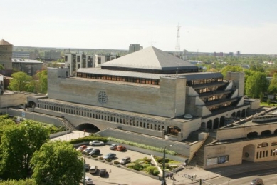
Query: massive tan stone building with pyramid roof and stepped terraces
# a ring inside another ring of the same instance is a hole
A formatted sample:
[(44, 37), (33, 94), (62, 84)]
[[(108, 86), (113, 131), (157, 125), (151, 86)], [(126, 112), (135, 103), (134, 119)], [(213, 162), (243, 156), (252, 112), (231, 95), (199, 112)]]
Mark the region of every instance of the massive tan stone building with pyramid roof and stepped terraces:
[[(171, 149), (187, 159), (226, 119), (246, 117), (258, 105), (244, 101), (244, 74), (200, 72), (167, 52), (149, 47), (100, 68), (48, 68), (48, 96), (28, 98), (32, 111), (66, 119), (75, 128), (93, 125), (103, 136)], [(174, 145), (177, 144), (177, 145)]]

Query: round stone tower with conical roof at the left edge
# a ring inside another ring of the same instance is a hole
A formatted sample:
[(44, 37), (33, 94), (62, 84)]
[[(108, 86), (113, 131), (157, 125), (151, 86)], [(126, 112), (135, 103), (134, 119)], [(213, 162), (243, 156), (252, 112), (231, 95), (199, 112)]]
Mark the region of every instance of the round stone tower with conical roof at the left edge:
[(11, 65), (11, 56), (13, 54), (13, 45), (4, 39), (0, 40), (0, 64), (5, 69), (13, 69)]

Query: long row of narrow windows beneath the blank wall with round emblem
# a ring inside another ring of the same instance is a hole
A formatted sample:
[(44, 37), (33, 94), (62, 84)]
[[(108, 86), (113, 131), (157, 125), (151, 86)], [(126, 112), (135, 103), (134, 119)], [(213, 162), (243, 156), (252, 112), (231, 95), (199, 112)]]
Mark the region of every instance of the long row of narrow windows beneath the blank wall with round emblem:
[[(51, 111), (61, 111), (66, 114), (85, 116), (93, 119), (102, 119), (105, 121), (112, 121), (119, 124), (137, 126), (145, 129), (152, 129), (157, 131), (162, 131), (164, 129), (164, 126), (162, 125), (164, 123), (160, 121), (152, 121), (148, 119), (141, 119), (141, 118), (132, 117), (132, 116), (123, 116), (119, 114), (105, 115), (104, 112), (97, 112), (97, 111), (88, 110), (88, 109), (86, 110), (76, 109), (76, 107), (73, 107), (73, 106), (61, 107), (61, 105), (58, 105), (58, 104), (43, 104), (42, 102), (38, 102), (38, 108), (48, 109)], [(170, 132), (172, 132), (172, 134), (176, 133), (176, 131), (170, 131)], [(177, 135), (177, 134), (174, 134), (174, 135)]]

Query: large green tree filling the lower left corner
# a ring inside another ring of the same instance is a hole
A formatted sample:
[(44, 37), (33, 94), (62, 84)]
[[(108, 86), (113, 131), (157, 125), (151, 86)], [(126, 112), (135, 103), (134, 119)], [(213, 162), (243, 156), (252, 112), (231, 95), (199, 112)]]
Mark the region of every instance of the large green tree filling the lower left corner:
[(24, 179), (33, 153), (49, 139), (49, 130), (31, 120), (4, 126), (0, 144), (0, 174), (4, 179)]

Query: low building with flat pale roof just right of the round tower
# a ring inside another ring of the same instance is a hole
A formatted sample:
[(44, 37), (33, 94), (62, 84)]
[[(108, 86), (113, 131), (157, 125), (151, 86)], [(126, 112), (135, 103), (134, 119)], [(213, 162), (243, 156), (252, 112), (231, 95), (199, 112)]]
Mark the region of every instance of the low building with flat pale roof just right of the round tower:
[(12, 59), (12, 66), (18, 71), (33, 76), (43, 68), (43, 62), (30, 59)]

